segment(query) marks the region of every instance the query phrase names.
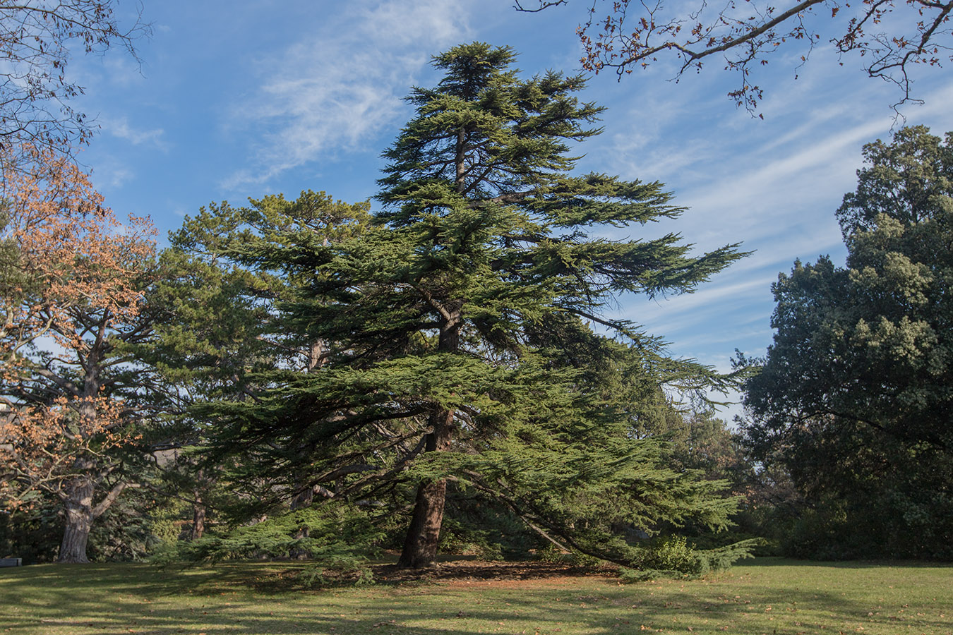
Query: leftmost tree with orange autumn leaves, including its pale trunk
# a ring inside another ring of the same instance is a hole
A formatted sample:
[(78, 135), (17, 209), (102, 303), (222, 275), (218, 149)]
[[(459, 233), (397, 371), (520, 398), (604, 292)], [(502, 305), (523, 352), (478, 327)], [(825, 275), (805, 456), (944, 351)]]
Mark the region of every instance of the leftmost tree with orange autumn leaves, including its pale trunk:
[(5, 506), (59, 499), (61, 562), (86, 562), (93, 520), (128, 484), (118, 451), (136, 436), (124, 347), (149, 336), (142, 292), (152, 225), (120, 224), (85, 174), (51, 150), (4, 181), (0, 426)]

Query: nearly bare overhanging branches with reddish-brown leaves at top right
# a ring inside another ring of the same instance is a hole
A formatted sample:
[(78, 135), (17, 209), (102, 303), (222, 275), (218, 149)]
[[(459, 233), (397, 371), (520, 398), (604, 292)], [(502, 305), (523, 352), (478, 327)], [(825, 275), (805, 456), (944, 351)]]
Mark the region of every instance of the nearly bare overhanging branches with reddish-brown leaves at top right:
[[(517, 10), (539, 11), (568, 0), (517, 0)], [(694, 6), (657, 2), (590, 0), (586, 19), (577, 32), (582, 42), (582, 66), (599, 72), (615, 69), (618, 76), (644, 69), (672, 56), (677, 77), (699, 71), (720, 58), (725, 69), (738, 71), (740, 87), (728, 93), (739, 106), (754, 111), (761, 89), (753, 70), (766, 65), (785, 46), (801, 46), (801, 63), (821, 42), (821, 33), (839, 30), (830, 42), (841, 55), (865, 58), (870, 77), (893, 82), (901, 89), (894, 108), (911, 99), (910, 73), (917, 65), (940, 67), (953, 57), (950, 35), (953, 2), (908, 0), (904, 3), (863, 0), (801, 0), (782, 6), (759, 2)]]

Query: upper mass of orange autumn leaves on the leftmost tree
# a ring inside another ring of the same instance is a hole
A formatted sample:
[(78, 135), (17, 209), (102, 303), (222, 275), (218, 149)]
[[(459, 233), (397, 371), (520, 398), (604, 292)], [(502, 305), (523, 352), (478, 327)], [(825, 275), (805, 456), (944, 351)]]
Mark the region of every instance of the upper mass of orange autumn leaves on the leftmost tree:
[(13, 248), (0, 354), (14, 365), (19, 348), (46, 334), (75, 346), (72, 308), (106, 310), (119, 321), (134, 316), (137, 278), (155, 249), (148, 218), (120, 223), (87, 174), (51, 152), (32, 151), (36, 169), (11, 172), (0, 184), (7, 217), (0, 240)]

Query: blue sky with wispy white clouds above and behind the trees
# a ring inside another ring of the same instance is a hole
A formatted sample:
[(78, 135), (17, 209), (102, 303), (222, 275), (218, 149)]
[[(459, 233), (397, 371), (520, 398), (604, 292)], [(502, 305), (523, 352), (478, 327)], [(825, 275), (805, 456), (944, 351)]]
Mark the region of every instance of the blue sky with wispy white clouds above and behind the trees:
[[(71, 64), (86, 87), (75, 105), (101, 126), (82, 161), (113, 209), (149, 214), (162, 236), (210, 201), (302, 189), (365, 200), (411, 116), (401, 98), (438, 79), (431, 55), (480, 40), (514, 47), (527, 75), (573, 72), (585, 4), (525, 14), (509, 0), (147, 0), (141, 68), (121, 51)], [(695, 293), (620, 299), (618, 313), (676, 356), (727, 369), (736, 347), (763, 354), (778, 273), (796, 258), (843, 261), (834, 210), (854, 189), (862, 145), (896, 125), (898, 93), (824, 45), (797, 69), (801, 52), (760, 69), (763, 120), (725, 97), (737, 79), (717, 60), (678, 83), (664, 64), (621, 82), (600, 74), (582, 95), (608, 110), (580, 169), (662, 181), (689, 208), (614, 236), (678, 231), (700, 250), (754, 251)], [(902, 109), (908, 123), (953, 129), (946, 77), (916, 78), (925, 104)]]

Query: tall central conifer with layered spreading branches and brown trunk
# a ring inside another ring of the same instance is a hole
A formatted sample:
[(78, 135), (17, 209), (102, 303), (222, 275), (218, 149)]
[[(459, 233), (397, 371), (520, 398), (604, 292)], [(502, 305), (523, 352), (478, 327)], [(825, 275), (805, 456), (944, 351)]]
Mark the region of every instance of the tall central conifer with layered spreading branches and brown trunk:
[(218, 445), (307, 467), (327, 498), (400, 511), (410, 488), (401, 566), (433, 564), (448, 486), (617, 559), (612, 523), (720, 525), (731, 506), (717, 484), (658, 465), (625, 399), (714, 373), (665, 358), (606, 309), (621, 293), (689, 291), (737, 246), (693, 257), (677, 235), (599, 238), (680, 209), (659, 183), (573, 175), (569, 145), (598, 133), (601, 109), (574, 96), (580, 76), (520, 79), (514, 57), (481, 43), (435, 57), (444, 77), (408, 97), (416, 116), (384, 153), (373, 228), (242, 256), (297, 272), (287, 324), (331, 346), (319, 372), (214, 407)]

